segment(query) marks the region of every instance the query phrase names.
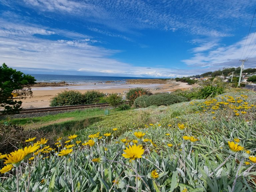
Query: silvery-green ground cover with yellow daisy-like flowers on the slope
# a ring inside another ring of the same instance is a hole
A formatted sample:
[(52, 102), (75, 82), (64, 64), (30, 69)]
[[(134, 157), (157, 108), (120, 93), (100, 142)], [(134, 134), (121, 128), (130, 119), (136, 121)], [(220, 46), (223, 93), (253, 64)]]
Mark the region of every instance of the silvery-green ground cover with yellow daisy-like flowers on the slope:
[(254, 191), (256, 96), (231, 91), (104, 116), (54, 146), (27, 138), (1, 154), (0, 190)]

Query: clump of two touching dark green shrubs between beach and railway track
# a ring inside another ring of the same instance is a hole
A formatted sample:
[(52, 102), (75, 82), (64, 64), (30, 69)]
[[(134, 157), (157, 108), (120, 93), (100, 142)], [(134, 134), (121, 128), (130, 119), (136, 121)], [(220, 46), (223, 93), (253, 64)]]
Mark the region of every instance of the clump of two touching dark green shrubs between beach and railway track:
[(98, 103), (103, 100), (104, 93), (99, 91), (87, 91), (82, 94), (79, 91), (63, 91), (58, 93), (50, 100), (50, 106), (64, 106), (64, 105), (85, 105)]

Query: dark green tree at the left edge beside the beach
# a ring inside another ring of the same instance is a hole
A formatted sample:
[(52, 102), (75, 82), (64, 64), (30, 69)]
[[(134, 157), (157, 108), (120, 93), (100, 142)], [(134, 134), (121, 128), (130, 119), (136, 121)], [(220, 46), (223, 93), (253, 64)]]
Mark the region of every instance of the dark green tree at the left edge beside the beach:
[(31, 97), (31, 86), (35, 81), (31, 75), (9, 68), (5, 63), (0, 66), (0, 107), (3, 108), (1, 114), (18, 113), (22, 101), (13, 98)]

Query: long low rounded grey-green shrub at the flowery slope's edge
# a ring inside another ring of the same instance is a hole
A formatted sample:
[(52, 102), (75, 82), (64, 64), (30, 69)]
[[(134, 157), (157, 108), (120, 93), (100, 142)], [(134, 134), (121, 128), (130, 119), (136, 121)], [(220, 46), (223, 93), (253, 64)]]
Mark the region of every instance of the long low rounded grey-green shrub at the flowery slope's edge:
[(174, 103), (180, 103), (188, 101), (187, 98), (181, 96), (181, 95), (176, 95), (176, 94), (157, 94), (157, 95), (151, 95), (151, 96), (141, 96), (135, 99), (134, 105), (135, 107), (149, 107), (151, 105), (172, 105)]

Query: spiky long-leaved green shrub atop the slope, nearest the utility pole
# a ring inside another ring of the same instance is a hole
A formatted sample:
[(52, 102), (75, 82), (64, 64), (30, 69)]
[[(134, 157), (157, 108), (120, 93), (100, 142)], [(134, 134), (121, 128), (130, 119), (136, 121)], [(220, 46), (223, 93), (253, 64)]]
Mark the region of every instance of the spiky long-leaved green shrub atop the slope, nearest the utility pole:
[(197, 93), (194, 94), (193, 98), (194, 99), (205, 99), (208, 97), (215, 97), (219, 94), (224, 93), (224, 88), (222, 87), (214, 87), (212, 85), (210, 86), (205, 86), (202, 89), (200, 89)]

